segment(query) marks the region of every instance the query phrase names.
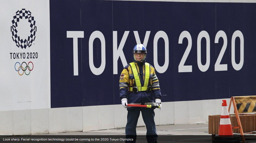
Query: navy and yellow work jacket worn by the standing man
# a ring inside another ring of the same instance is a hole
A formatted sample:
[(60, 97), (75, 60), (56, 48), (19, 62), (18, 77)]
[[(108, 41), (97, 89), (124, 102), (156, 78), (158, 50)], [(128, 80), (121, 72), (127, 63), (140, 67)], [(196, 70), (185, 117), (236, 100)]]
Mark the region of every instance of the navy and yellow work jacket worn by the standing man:
[[(142, 64), (138, 62), (133, 63), (125, 66), (120, 75), (120, 98), (127, 98), (128, 104), (153, 105), (155, 98), (161, 98), (159, 81), (155, 74), (155, 69), (152, 65), (146, 62), (143, 62)], [(136, 69), (132, 69), (132, 66), (136, 67)], [(134, 74), (133, 71), (136, 72), (136, 70), (137, 73)], [(136, 77), (134, 77), (134, 75), (138, 76), (137, 80), (140, 79), (141, 87), (144, 88), (138, 87), (138, 83), (136, 84)], [(149, 76), (149, 78), (145, 76)], [(137, 87), (139, 91), (134, 92), (132, 90), (133, 87)], [(148, 91), (146, 91), (147, 88), (145, 87), (149, 88)], [(129, 107), (128, 109), (132, 109), (132, 107)]]

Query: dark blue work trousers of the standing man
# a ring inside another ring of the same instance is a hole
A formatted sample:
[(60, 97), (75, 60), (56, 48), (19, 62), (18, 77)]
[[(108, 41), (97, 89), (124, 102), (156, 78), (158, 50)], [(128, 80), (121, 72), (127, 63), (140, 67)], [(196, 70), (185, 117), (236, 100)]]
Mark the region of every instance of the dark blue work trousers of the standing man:
[[(147, 133), (147, 141), (148, 143), (157, 143), (157, 130), (154, 122), (154, 109), (150, 108), (134, 108), (128, 109), (127, 115), (127, 124), (125, 127), (125, 135), (135, 137), (135, 140), (131, 143), (136, 142), (136, 127), (138, 123), (138, 118), (140, 116), (140, 112), (142, 113), (143, 121), (146, 125)], [(130, 143), (130, 142), (127, 142)]]

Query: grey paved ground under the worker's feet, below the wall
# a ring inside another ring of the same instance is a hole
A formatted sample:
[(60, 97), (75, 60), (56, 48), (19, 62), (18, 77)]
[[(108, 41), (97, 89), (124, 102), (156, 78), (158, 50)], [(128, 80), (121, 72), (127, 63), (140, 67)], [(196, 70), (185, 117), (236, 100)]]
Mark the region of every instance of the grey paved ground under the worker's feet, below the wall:
[[(212, 135), (208, 134), (208, 123), (161, 125), (156, 128), (158, 143), (213, 143)], [(129, 139), (133, 140), (134, 138), (125, 137), (125, 128), (119, 128), (87, 132), (2, 136), (0, 143), (125, 143), (125, 140)], [(145, 126), (137, 127), (136, 143), (148, 143)], [(221, 143), (221, 141), (218, 140), (217, 143)], [(241, 138), (240, 143), (243, 143)], [(246, 143), (256, 143), (256, 136), (246, 137)]]

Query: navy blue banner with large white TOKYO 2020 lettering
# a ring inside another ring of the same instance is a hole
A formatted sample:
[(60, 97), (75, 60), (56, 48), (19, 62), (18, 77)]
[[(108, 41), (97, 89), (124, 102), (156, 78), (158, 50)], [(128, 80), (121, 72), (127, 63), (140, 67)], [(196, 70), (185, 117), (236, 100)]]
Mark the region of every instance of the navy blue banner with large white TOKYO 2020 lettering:
[(255, 95), (256, 4), (50, 0), (51, 107), (120, 104), (137, 43), (162, 101)]

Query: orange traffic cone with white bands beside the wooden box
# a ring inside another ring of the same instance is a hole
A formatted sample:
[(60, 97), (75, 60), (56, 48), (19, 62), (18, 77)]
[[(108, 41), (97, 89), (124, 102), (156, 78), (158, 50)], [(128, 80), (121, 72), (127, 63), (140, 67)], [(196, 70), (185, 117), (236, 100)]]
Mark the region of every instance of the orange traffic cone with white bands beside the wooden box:
[(232, 126), (230, 122), (230, 115), (227, 109), (227, 101), (222, 100), (221, 121), (219, 126), (219, 136), (231, 137), (233, 136)]

